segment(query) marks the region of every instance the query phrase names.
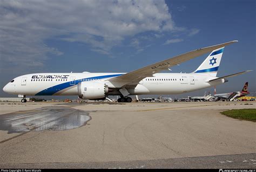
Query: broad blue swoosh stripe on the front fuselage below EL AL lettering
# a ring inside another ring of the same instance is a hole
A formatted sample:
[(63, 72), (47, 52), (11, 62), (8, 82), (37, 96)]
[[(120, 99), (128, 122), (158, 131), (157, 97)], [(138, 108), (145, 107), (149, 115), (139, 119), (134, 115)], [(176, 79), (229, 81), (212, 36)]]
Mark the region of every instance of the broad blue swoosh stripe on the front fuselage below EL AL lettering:
[(87, 77), (87, 78), (75, 80), (75, 83), (72, 84), (72, 85), (70, 84), (70, 81), (69, 81), (69, 82), (61, 83), (61, 84), (55, 85), (53, 87), (49, 87), (47, 89), (44, 89), (43, 91), (38, 92), (35, 96), (51, 96), (51, 95), (55, 94), (56, 92), (58, 92), (60, 90), (72, 87), (73, 85), (77, 85), (79, 82), (82, 82), (82, 81), (85, 81), (85, 80), (87, 80), (87, 81), (89, 81), (89, 80), (100, 80), (100, 79), (103, 79), (103, 78), (115, 77), (115, 76), (120, 76), (120, 75), (123, 75), (123, 74)]

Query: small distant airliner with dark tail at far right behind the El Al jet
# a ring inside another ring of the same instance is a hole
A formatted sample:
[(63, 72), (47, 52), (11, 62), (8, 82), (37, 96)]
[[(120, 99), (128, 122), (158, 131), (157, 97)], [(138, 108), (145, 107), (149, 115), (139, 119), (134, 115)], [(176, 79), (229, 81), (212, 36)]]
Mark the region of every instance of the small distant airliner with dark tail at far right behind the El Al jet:
[(242, 88), (242, 91), (234, 91), (234, 92), (228, 92), (228, 93), (223, 93), (223, 94), (215, 94), (213, 96), (219, 97), (219, 99), (224, 98), (224, 99), (227, 99), (228, 101), (233, 101), (233, 99), (235, 99), (235, 98), (243, 97), (243, 96), (250, 94), (250, 92), (248, 92), (247, 89), (248, 89), (248, 82), (245, 83), (244, 88)]

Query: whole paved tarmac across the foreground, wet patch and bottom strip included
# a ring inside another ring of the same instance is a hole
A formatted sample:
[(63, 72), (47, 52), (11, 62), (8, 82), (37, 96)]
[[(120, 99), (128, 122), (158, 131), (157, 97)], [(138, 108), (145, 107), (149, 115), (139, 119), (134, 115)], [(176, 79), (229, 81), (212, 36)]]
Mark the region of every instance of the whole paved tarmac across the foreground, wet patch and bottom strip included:
[(256, 102), (2, 103), (0, 168), (256, 168), (255, 123), (219, 113), (246, 108)]

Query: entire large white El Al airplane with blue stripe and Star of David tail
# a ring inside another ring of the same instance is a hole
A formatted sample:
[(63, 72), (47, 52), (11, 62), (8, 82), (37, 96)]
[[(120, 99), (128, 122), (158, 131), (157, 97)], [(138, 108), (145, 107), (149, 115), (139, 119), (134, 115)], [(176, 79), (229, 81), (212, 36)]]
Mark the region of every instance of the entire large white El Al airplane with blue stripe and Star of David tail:
[[(120, 96), (118, 102), (131, 102), (129, 95), (169, 95), (181, 94), (213, 87), (227, 82), (227, 77), (216, 77), (224, 46), (237, 41), (199, 48), (194, 51), (166, 59), (130, 73), (37, 73), (14, 78), (5, 85), (3, 91), (22, 97), (78, 95), (82, 99), (105, 99), (109, 95)], [(159, 73), (170, 70), (182, 62), (211, 52), (205, 61), (192, 73)]]

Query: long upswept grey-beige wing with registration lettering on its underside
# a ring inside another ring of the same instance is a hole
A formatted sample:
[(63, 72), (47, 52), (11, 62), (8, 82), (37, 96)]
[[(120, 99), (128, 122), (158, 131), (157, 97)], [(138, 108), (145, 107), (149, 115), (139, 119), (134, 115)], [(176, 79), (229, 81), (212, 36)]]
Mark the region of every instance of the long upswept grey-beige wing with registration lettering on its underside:
[(139, 81), (143, 80), (143, 78), (145, 77), (151, 77), (153, 76), (153, 74), (159, 73), (160, 71), (167, 70), (172, 66), (176, 66), (182, 62), (191, 60), (193, 58), (196, 58), (197, 56), (213, 51), (214, 49), (218, 49), (226, 45), (233, 44), (235, 42), (238, 42), (238, 41), (234, 40), (234, 41), (226, 42), (224, 44), (214, 45), (214, 46), (205, 47), (205, 48), (199, 48), (194, 51), (181, 54), (178, 56), (174, 56), (173, 58), (151, 64), (144, 68), (131, 71), (130, 73), (126, 73), (121, 76), (110, 78), (108, 81), (123, 83), (121, 85), (125, 85), (125, 84), (137, 85)]

